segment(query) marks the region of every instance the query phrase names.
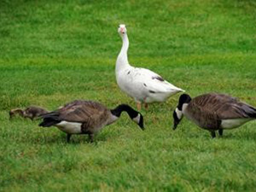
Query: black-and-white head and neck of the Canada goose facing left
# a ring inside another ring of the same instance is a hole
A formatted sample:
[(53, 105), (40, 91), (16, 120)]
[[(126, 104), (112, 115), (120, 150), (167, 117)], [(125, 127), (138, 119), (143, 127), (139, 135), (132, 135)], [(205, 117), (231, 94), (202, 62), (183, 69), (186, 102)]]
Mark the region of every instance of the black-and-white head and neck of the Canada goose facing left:
[(183, 119), (184, 106), (187, 106), (191, 101), (191, 97), (188, 94), (183, 94), (179, 97), (177, 108), (173, 111), (173, 130), (176, 130), (177, 125)]

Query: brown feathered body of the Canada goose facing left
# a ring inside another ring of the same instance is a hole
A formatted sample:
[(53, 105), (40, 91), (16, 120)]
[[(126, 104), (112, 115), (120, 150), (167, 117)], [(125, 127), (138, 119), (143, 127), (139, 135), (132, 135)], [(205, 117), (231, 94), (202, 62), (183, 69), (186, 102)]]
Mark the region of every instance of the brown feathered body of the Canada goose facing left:
[(256, 109), (235, 97), (210, 93), (196, 96), (184, 112), (188, 119), (207, 129), (219, 129), (224, 119), (253, 119)]

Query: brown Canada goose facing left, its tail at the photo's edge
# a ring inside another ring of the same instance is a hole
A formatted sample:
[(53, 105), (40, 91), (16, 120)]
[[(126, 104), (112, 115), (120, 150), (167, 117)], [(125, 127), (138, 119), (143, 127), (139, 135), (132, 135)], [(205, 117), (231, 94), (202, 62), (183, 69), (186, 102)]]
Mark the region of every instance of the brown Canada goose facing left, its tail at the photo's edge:
[(173, 112), (173, 130), (177, 128), (183, 115), (202, 129), (210, 131), (213, 138), (216, 137), (217, 130), (222, 136), (224, 129), (233, 129), (256, 119), (256, 108), (224, 94), (208, 93), (194, 99), (183, 94)]

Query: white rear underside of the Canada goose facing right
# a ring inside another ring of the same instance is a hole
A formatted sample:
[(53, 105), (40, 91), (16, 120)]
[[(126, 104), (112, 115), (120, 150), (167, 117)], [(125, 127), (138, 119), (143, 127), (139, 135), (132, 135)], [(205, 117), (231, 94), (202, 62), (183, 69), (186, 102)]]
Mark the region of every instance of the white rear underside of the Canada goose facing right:
[(81, 123), (75, 122), (68, 122), (68, 121), (61, 121), (61, 123), (57, 124), (56, 126), (61, 130), (69, 134), (79, 134), (82, 132), (81, 130)]

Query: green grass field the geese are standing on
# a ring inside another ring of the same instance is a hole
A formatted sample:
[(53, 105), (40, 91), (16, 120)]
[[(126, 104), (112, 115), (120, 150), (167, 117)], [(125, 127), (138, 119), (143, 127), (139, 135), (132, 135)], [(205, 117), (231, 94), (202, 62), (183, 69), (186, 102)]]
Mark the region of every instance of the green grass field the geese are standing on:
[(16, 118), (74, 99), (135, 102), (114, 76), (125, 23), (129, 58), (186, 90), (256, 106), (253, 0), (0, 2), (0, 191), (254, 191), (256, 122), (212, 139), (187, 119), (172, 131), (178, 96), (155, 103), (145, 131), (124, 114), (87, 143)]

